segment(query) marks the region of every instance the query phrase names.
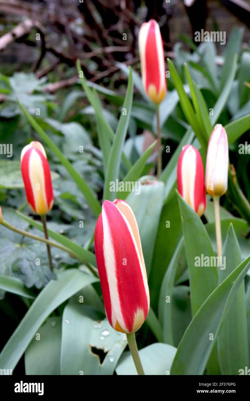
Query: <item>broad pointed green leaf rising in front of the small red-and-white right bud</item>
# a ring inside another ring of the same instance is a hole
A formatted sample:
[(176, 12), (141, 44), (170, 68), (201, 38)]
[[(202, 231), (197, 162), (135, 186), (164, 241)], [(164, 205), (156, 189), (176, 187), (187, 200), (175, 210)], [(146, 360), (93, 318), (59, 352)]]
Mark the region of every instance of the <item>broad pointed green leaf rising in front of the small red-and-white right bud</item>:
[[(215, 266), (195, 266), (203, 257), (214, 257), (207, 231), (199, 216), (177, 192), (179, 201), (189, 279), (193, 316), (217, 286), (218, 274)], [(197, 259), (200, 258), (200, 259)]]

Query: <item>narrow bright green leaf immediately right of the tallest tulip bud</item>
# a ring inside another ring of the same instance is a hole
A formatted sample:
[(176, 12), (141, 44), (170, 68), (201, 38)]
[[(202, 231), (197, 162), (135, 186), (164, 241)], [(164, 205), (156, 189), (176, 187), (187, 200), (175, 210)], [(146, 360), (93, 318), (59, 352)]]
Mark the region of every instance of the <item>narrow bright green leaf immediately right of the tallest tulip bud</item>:
[(206, 138), (199, 127), (199, 122), (194, 113), (191, 102), (183, 89), (183, 83), (181, 82), (181, 78), (179, 77), (177, 70), (175, 69), (175, 66), (173, 65), (172, 61), (170, 59), (167, 59), (167, 60), (169, 63), (169, 70), (171, 73), (171, 77), (174, 81), (175, 87), (177, 89), (177, 92), (178, 92), (178, 95), (180, 98), (180, 103), (181, 103), (181, 107), (183, 109), (183, 113), (185, 114), (185, 117), (186, 117), (188, 123), (193, 128), (195, 135), (197, 136), (200, 144), (202, 146), (206, 147)]

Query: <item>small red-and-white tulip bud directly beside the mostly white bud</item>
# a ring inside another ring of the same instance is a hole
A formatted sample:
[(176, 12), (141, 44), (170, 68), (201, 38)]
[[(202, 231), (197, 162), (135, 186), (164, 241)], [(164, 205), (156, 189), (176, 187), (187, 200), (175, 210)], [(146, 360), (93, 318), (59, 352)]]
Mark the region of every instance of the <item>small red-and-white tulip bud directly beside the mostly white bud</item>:
[(177, 166), (178, 191), (199, 217), (206, 209), (204, 169), (199, 151), (183, 146)]

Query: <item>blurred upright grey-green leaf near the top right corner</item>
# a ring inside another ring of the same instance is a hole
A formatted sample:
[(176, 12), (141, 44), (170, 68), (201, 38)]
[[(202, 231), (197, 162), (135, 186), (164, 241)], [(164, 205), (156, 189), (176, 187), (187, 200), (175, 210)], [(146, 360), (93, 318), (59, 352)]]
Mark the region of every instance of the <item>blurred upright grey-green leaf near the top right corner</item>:
[(240, 52), (244, 29), (235, 26), (229, 37), (225, 52), (225, 62), (221, 71), (220, 91), (228, 84), (228, 76), (232, 69), (232, 61), (237, 60), (237, 54)]

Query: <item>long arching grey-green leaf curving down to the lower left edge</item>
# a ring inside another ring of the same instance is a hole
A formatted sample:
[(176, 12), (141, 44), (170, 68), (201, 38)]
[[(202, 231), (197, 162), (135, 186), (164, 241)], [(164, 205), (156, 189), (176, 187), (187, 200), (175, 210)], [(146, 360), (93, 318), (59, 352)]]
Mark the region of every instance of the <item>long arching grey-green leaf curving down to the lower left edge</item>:
[(14, 369), (37, 330), (51, 312), (81, 288), (97, 281), (96, 277), (80, 270), (69, 269), (59, 274), (56, 280), (49, 282), (4, 346), (0, 354), (0, 367)]

